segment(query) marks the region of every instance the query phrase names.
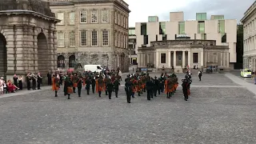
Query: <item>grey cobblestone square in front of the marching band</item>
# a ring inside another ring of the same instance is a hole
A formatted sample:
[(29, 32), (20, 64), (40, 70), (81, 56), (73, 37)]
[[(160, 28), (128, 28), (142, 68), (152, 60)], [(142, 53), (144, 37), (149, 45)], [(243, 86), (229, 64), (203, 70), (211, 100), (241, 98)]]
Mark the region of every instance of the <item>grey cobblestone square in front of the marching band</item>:
[(181, 87), (170, 99), (161, 94), (147, 101), (144, 93), (136, 94), (130, 104), (123, 86), (119, 98), (111, 100), (105, 94), (86, 95), (85, 90), (82, 98), (72, 94), (67, 100), (63, 89), (54, 98), (49, 87), (0, 98), (0, 143), (254, 144), (254, 94), (225, 74), (203, 74), (202, 82), (193, 80), (187, 102)]

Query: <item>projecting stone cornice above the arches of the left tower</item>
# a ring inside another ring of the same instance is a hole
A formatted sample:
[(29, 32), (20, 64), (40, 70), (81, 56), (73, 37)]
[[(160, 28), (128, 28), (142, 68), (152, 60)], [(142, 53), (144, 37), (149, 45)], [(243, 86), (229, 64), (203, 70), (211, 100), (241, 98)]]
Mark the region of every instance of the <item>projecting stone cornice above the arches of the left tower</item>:
[(54, 21), (54, 22), (61, 22), (61, 20), (58, 20), (57, 18), (54, 17), (49, 17), (47, 15), (44, 14), (40, 14), (38, 12), (32, 11), (32, 10), (1, 10), (0, 11), (0, 15), (17, 15), (17, 14), (30, 14), (30, 15), (34, 15), (37, 16), (39, 18), (43, 18), (46, 19), (48, 21)]

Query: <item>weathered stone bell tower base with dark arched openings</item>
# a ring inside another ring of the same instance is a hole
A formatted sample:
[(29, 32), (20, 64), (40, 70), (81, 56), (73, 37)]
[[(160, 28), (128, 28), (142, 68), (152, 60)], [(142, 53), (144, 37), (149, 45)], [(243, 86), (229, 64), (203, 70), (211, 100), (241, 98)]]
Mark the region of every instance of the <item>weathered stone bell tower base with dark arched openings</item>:
[(0, 2), (0, 76), (57, 69), (56, 30), (58, 19), (49, 2), (6, 0)]

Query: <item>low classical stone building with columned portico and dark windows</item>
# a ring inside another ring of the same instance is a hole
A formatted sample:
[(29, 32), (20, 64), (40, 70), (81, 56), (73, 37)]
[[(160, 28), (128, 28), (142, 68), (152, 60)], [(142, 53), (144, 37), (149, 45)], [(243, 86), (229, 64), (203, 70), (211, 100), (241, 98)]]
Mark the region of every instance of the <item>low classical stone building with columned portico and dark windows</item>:
[(149, 47), (138, 48), (138, 67), (154, 66), (182, 72), (185, 66), (218, 66), (230, 70), (229, 46), (216, 46), (214, 40), (166, 40), (151, 42)]

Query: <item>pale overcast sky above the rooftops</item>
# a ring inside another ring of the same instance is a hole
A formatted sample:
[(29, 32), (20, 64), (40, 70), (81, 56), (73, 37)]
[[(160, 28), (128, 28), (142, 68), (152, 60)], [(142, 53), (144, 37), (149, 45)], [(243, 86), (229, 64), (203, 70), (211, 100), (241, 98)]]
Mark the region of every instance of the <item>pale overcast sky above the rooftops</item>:
[(171, 11), (184, 11), (185, 20), (195, 19), (196, 13), (224, 14), (226, 19), (241, 20), (244, 12), (255, 0), (124, 0), (131, 10), (129, 26), (147, 22), (147, 17), (157, 15), (159, 21), (169, 21)]

